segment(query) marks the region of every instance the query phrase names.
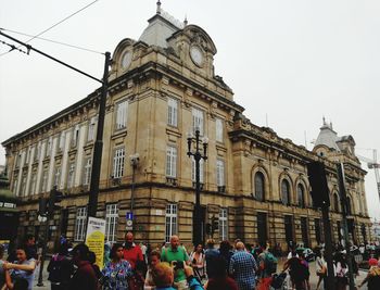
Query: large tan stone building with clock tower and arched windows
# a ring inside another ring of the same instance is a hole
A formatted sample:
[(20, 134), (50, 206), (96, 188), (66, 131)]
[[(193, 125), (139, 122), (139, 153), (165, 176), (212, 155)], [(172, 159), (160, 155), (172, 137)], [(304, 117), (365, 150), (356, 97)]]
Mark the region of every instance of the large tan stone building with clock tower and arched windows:
[[(282, 248), (289, 241), (311, 247), (322, 241), (321, 214), (312, 206), (306, 173), (308, 162), (320, 160), (327, 166), (338, 241), (341, 214), (333, 162), (339, 160), (346, 175), (352, 239), (369, 239), (366, 172), (355, 157), (354, 139), (338, 137), (324, 122), (308, 151), (252, 124), (215, 75), (216, 51), (205, 30), (175, 21), (160, 5), (138, 40), (126, 38), (114, 50), (98, 203), (106, 240), (123, 239), (125, 216), (132, 210), (138, 240), (161, 243), (179, 234), (191, 242), (194, 162), (187, 155), (187, 135), (195, 127), (210, 140), (208, 159), (201, 164), (205, 238), (205, 224), (214, 217), (219, 220), (218, 241), (268, 240)], [(100, 89), (2, 142), (11, 188), (22, 199), (21, 235), (42, 231), (38, 200), (56, 186), (65, 198), (49, 220), (50, 238), (66, 234), (84, 240), (99, 94)], [(132, 178), (129, 156), (136, 154)]]

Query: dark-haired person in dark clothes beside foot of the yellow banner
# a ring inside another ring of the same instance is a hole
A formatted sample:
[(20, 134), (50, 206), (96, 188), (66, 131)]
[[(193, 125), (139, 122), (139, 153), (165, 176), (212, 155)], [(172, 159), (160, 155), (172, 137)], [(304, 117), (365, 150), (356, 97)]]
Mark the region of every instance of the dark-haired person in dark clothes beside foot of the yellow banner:
[(69, 280), (67, 289), (71, 290), (98, 290), (98, 278), (88, 261), (89, 249), (85, 243), (79, 243), (73, 249), (73, 262), (78, 269)]

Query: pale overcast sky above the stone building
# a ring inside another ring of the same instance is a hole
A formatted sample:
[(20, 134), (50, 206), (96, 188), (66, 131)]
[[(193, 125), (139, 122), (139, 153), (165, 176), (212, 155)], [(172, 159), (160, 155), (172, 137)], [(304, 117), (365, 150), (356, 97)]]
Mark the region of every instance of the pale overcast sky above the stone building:
[[(92, 1), (0, 0), (0, 27), (37, 35)], [(140, 37), (155, 13), (155, 2), (99, 0), (41, 37), (113, 52), (122, 39)], [(211, 36), (217, 48), (215, 72), (254, 124), (268, 123), (280, 137), (312, 149), (326, 116), (339, 136), (354, 137), (358, 154), (371, 157), (367, 149), (380, 150), (379, 0), (163, 0), (162, 8), (180, 21), (187, 15), (189, 24)], [(4, 37), (0, 40), (12, 43)], [(30, 45), (102, 76), (100, 53), (38, 39)], [(0, 53), (8, 50), (0, 43)], [(1, 55), (0, 141), (98, 87), (35, 52)], [(1, 148), (0, 164), (4, 160)], [(380, 218), (372, 171), (366, 191), (370, 215)]]

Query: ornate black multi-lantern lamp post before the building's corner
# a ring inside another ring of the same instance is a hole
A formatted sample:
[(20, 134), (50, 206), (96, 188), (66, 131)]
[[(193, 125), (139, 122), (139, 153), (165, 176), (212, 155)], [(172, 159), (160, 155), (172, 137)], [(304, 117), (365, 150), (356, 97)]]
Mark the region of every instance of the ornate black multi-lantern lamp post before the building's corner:
[[(192, 143), (195, 142), (195, 150), (192, 150)], [(203, 154), (200, 151), (201, 142), (203, 144)], [(201, 223), (201, 181), (200, 181), (200, 171), (201, 171), (201, 160), (207, 160), (207, 143), (208, 139), (206, 137), (200, 140), (200, 129), (195, 128), (195, 137), (189, 133), (188, 134), (188, 156), (194, 157), (195, 161), (195, 207), (192, 215), (192, 241), (193, 244), (202, 243), (202, 223)]]

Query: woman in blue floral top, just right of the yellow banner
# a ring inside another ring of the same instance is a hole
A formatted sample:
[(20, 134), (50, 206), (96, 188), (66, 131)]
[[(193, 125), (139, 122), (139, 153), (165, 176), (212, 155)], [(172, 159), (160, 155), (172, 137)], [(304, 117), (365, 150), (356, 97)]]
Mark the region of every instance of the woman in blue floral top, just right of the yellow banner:
[(123, 259), (123, 244), (115, 243), (110, 253), (111, 261), (102, 269), (101, 283), (104, 290), (128, 289), (127, 278), (132, 276), (131, 266)]

